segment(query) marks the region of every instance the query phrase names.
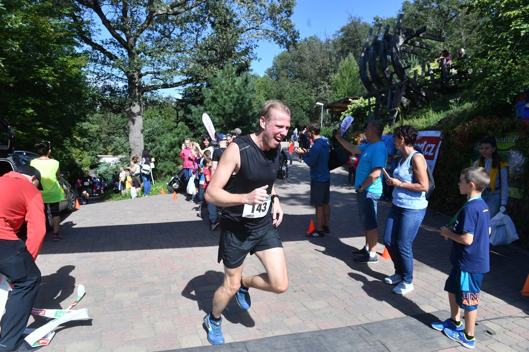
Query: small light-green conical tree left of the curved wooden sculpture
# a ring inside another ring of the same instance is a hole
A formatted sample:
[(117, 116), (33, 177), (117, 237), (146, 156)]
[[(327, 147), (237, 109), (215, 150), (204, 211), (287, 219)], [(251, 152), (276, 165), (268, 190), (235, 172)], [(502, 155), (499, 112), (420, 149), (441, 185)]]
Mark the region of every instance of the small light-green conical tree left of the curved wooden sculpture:
[(366, 93), (366, 88), (360, 80), (360, 69), (353, 54), (349, 54), (340, 61), (338, 72), (331, 77), (333, 100), (344, 97), (361, 97)]

